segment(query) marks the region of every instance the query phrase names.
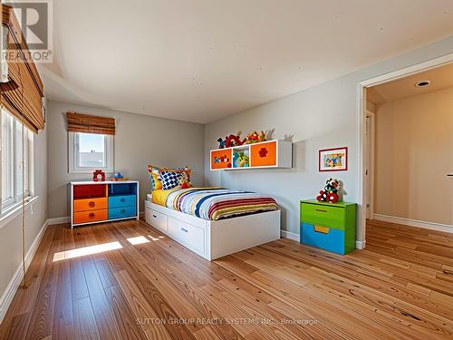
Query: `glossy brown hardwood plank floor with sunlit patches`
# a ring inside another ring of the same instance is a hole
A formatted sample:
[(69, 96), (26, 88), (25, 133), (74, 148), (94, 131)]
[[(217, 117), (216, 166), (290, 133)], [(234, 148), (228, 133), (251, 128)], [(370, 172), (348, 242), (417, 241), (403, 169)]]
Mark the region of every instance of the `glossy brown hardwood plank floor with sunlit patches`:
[(50, 226), (28, 276), (1, 339), (453, 336), (453, 234), (376, 221), (345, 257), (280, 239), (213, 262), (142, 221)]

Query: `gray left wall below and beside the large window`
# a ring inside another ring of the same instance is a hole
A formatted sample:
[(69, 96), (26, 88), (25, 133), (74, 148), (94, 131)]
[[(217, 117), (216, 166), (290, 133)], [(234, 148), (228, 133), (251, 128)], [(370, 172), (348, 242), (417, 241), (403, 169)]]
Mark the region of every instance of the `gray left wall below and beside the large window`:
[[(34, 136), (34, 193), (39, 199), (26, 210), (26, 250), (47, 220), (47, 134), (46, 128)], [(22, 216), (19, 215), (0, 228), (0, 296), (21, 264)]]

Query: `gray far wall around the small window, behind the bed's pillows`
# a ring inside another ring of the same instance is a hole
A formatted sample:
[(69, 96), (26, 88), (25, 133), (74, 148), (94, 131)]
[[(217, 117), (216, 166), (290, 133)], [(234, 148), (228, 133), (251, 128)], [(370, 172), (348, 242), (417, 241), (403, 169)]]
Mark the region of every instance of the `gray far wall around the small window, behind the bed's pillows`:
[(68, 102), (49, 101), (47, 123), (49, 129), (49, 216), (68, 217), (68, 182), (91, 180), (89, 174), (68, 173), (68, 133), (66, 112), (74, 111), (116, 120), (114, 166), (130, 180), (140, 181), (140, 211), (150, 192), (147, 172), (149, 163), (158, 166), (192, 169), (191, 181), (204, 181), (203, 125), (172, 121), (157, 117), (103, 110)]

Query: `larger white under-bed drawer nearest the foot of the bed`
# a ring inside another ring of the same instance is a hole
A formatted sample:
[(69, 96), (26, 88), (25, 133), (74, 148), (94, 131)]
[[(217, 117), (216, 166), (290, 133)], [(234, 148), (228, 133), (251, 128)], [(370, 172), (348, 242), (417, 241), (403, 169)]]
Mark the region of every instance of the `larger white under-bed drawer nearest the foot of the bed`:
[(169, 218), (169, 236), (200, 253), (205, 253), (205, 230), (184, 223), (179, 219)]

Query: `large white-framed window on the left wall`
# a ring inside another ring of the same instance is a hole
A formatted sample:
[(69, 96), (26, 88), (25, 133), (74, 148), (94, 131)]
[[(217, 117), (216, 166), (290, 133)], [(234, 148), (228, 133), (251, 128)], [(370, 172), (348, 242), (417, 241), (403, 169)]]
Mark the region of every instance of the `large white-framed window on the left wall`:
[[(22, 123), (11, 114), (2, 110), (0, 115), (2, 121), (2, 199), (1, 213), (22, 203), (22, 199), (32, 196), (33, 189), (33, 132), (24, 127)], [(24, 163), (22, 152), (24, 151)], [(23, 181), (24, 167), (24, 181)], [(24, 185), (24, 189), (23, 189)]]

